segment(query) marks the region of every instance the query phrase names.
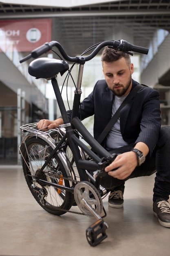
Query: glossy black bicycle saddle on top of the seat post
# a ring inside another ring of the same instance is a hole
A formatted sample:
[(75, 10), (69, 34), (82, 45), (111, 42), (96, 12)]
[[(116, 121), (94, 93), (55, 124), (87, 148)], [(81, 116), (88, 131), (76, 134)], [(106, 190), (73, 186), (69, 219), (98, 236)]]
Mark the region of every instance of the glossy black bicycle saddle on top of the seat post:
[(29, 64), (28, 72), (36, 78), (49, 79), (55, 77), (59, 72), (61, 76), (69, 69), (66, 61), (55, 58), (37, 58)]

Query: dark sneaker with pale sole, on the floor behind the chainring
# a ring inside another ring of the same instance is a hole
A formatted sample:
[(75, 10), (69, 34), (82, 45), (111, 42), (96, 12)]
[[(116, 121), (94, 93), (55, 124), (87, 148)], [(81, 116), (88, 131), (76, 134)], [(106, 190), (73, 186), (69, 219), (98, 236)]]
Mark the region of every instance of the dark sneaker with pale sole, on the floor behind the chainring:
[(108, 205), (112, 208), (121, 208), (124, 206), (123, 192), (121, 190), (110, 191)]

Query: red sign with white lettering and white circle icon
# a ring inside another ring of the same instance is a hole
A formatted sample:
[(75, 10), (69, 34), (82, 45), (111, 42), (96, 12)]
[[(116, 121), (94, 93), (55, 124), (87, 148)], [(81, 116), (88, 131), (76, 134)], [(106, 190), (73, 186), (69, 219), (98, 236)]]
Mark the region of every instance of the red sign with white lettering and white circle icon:
[(0, 50), (31, 52), (51, 41), (51, 19), (0, 20)]

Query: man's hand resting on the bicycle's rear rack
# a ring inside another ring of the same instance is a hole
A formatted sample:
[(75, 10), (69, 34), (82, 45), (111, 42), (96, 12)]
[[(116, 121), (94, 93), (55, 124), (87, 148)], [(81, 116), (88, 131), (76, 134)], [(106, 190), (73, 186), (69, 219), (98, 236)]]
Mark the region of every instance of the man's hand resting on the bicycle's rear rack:
[(41, 119), (37, 124), (37, 128), (47, 131), (49, 129), (57, 128), (60, 124), (63, 124), (62, 118), (58, 118), (54, 121), (50, 121), (49, 119)]

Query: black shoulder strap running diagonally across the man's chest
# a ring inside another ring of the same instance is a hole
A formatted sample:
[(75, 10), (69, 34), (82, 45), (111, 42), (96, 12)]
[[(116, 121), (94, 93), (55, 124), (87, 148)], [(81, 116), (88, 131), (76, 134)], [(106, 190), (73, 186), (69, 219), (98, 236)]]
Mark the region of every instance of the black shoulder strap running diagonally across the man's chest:
[(117, 111), (115, 112), (115, 115), (113, 115), (113, 117), (110, 119), (110, 121), (108, 122), (108, 124), (106, 125), (106, 127), (104, 128), (104, 130), (102, 131), (102, 133), (100, 134), (100, 136), (98, 137), (97, 141), (99, 142), (99, 144), (102, 143), (102, 141), (104, 140), (104, 138), (108, 135), (108, 132), (111, 130), (111, 128), (114, 126), (115, 122), (117, 121), (119, 115), (120, 115), (120, 110), (122, 108), (124, 108), (124, 106), (135, 96), (135, 94), (137, 93), (137, 91), (139, 91), (142, 87), (144, 87), (144, 85), (141, 84), (137, 84), (135, 86), (135, 88), (128, 94), (128, 96), (126, 97), (126, 99), (121, 103), (120, 107), (117, 109)]

